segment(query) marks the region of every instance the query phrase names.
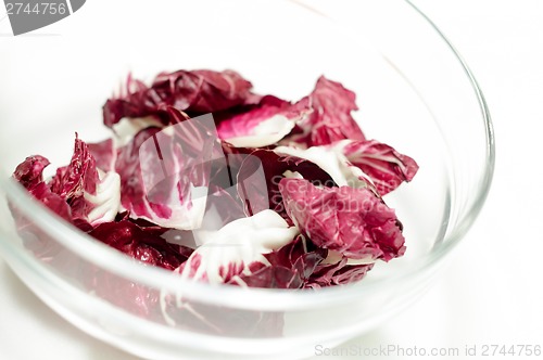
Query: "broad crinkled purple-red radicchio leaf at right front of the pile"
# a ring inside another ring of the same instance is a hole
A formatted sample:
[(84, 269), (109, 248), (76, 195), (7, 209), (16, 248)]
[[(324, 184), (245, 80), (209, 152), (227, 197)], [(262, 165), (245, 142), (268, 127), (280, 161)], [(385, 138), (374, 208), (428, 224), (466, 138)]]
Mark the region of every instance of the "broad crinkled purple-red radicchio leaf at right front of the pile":
[(288, 215), (319, 247), (384, 261), (405, 252), (394, 210), (367, 189), (319, 189), (303, 179), (282, 179), (279, 191)]

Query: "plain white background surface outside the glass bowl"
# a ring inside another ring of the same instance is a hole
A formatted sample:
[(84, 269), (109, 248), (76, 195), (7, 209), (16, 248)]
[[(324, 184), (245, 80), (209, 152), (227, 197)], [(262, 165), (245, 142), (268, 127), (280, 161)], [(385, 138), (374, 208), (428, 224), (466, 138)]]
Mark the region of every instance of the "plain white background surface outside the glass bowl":
[[(543, 2), (414, 3), (459, 50), (484, 92), (496, 134), (494, 182), (478, 221), (431, 291), (342, 350), (443, 347), (458, 348), (460, 356), (434, 358), (464, 359), (466, 346), (477, 346), (479, 353), (484, 345), (543, 346)], [(0, 359), (98, 358), (135, 359), (50, 311), (0, 259)]]

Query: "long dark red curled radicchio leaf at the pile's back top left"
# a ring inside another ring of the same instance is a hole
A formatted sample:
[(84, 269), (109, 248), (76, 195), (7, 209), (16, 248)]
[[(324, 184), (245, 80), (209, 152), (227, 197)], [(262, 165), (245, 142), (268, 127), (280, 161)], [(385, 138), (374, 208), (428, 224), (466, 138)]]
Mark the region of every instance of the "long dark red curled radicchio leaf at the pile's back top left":
[(251, 88), (251, 82), (233, 70), (162, 73), (150, 87), (129, 76), (124, 93), (103, 105), (103, 120), (112, 127), (124, 117), (155, 116), (163, 125), (171, 125), (168, 106), (190, 116), (224, 111), (258, 102)]

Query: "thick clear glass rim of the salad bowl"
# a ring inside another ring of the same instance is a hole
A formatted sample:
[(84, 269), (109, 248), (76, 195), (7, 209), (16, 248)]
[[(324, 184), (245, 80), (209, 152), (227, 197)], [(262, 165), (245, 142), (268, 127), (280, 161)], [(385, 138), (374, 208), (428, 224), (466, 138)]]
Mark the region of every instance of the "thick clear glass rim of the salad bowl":
[[(289, 0), (289, 2), (300, 4), (295, 0)], [(437, 25), (420, 11), (412, 0), (403, 0), (403, 2), (413, 8), (413, 10), (418, 13), (434, 31), (437, 31), (444, 43), (450, 48), (452, 55), (456, 57), (467, 76), (479, 104), (484, 125), (487, 159), (487, 167), (478, 184), (479, 192), (471, 202), (470, 207), (459, 218), (458, 224), (452, 232), (447, 233), (445, 242), (431, 253), (425, 254), (417, 265), (409, 266), (405, 272), (394, 273), (386, 279), (379, 279), (370, 283), (362, 281), (343, 286), (323, 287), (318, 292), (269, 288), (251, 288), (251, 291), (247, 291), (238, 286), (210, 285), (188, 281), (165, 269), (135, 263), (136, 260), (96, 241), (71, 223), (62, 221), (55, 214), (35, 201), (14, 179), (0, 177), (0, 187), (16, 206), (25, 208), (28, 214), (33, 214), (33, 220), (50, 236), (71, 252), (77, 254), (77, 256), (119, 277), (137, 279), (138, 282), (152, 287), (160, 287), (164, 291), (178, 294), (180, 294), (179, 288), (182, 288), (182, 293), (187, 294), (187, 297), (203, 304), (261, 311), (310, 309), (330, 305), (337, 306), (340, 303), (358, 298), (368, 292), (379, 292), (396, 282), (413, 281), (417, 279), (417, 277), (434, 268), (445, 256), (451, 254), (452, 249), (458, 245), (476, 220), (487, 200), (492, 183), (495, 164), (495, 140), (493, 125), (484, 95), (472, 72), (469, 69), (459, 52)], [(303, 4), (303, 7), (306, 7), (306, 4)], [(316, 10), (315, 12), (326, 16)], [(79, 239), (80, 241), (74, 241), (74, 239)], [(33, 257), (28, 254), (25, 254), (23, 258), (27, 262), (33, 261)]]

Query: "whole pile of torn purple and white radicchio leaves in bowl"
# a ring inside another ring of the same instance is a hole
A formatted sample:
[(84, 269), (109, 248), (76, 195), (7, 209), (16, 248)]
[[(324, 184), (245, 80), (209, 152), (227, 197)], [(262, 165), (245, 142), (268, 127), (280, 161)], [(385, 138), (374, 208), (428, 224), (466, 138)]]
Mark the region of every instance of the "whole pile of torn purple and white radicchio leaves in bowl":
[[(232, 70), (128, 77), (103, 106), (112, 136), (46, 179), (40, 155), (13, 177), (90, 236), (144, 265), (211, 284), (319, 288), (404, 254), (383, 197), (416, 162), (366, 137), (354, 92), (324, 76), (298, 101)], [(15, 216), (17, 227), (27, 223)]]

